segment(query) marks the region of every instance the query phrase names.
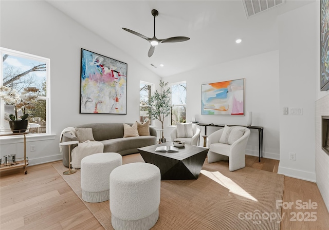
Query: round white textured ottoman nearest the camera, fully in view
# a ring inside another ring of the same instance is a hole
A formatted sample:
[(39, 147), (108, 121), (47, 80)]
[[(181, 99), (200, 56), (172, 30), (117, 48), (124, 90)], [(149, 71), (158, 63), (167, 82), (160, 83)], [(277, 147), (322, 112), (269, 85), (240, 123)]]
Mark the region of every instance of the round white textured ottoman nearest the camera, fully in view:
[(159, 218), (160, 169), (124, 164), (109, 175), (109, 209), (114, 229), (150, 229)]

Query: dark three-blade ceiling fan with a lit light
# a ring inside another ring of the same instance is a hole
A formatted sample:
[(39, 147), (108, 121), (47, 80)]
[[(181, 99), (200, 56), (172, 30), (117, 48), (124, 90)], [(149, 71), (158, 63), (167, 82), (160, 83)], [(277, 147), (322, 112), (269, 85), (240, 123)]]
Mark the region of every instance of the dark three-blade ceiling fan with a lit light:
[(187, 41), (189, 40), (190, 38), (189, 37), (182, 37), (182, 36), (179, 36), (179, 37), (169, 37), (168, 39), (157, 39), (157, 37), (155, 36), (155, 17), (159, 15), (159, 12), (157, 10), (152, 10), (151, 11), (153, 17), (154, 17), (154, 36), (152, 37), (152, 39), (150, 37), (147, 37), (147, 36), (144, 36), (143, 34), (140, 34), (140, 33), (137, 33), (133, 30), (130, 30), (130, 29), (127, 29), (127, 28), (122, 28), (124, 29), (125, 31), (128, 31), (130, 33), (133, 33), (139, 37), (141, 37), (142, 39), (145, 39), (147, 41), (149, 41), (151, 43), (151, 47), (150, 47), (150, 50), (149, 50), (149, 57), (152, 56), (152, 54), (154, 53), (154, 49), (155, 47), (160, 44), (160, 43), (166, 43), (166, 42), (184, 42), (184, 41)]

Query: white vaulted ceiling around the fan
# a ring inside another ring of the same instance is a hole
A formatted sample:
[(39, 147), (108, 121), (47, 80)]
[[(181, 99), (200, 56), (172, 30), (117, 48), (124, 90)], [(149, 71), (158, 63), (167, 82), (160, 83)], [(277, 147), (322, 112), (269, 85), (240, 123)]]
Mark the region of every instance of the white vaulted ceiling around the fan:
[[(165, 77), (197, 68), (211, 74), (207, 66), (278, 49), (277, 16), (314, 1), (286, 0), (249, 18), (238, 0), (47, 2)], [(190, 40), (159, 44), (148, 57), (150, 43), (121, 28), (153, 37), (152, 9), (159, 11), (158, 39), (187, 36)], [(235, 43), (238, 38), (242, 43)], [(165, 66), (160, 67), (161, 63)]]

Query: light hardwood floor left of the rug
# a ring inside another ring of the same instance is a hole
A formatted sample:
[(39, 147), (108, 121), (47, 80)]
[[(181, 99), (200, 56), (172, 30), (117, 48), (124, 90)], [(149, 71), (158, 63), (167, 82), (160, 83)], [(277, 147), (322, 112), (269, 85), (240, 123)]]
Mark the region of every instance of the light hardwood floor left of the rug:
[(0, 229), (103, 229), (51, 163), (1, 172)]

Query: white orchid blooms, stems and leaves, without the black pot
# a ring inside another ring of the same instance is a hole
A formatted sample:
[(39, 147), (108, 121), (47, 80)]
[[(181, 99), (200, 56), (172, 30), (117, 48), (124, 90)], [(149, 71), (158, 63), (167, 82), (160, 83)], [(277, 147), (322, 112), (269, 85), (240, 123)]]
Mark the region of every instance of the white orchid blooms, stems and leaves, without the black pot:
[(27, 110), (35, 109), (34, 103), (39, 97), (39, 89), (36, 87), (26, 87), (24, 91), (19, 94), (17, 90), (9, 88), (7, 86), (0, 86), (0, 98), (8, 105), (14, 105), (15, 115), (9, 114), (9, 118), (12, 121), (19, 120), (17, 116), (18, 112), (22, 110), (23, 116), (20, 116), (21, 120), (26, 120), (29, 114)]

